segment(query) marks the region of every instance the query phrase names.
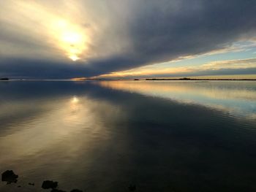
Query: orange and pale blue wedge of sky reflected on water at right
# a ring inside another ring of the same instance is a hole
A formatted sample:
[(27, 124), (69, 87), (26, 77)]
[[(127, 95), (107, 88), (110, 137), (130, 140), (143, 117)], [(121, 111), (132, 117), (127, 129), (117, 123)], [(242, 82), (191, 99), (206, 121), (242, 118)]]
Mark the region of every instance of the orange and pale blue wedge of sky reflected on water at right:
[(102, 87), (200, 104), (256, 120), (255, 82), (101, 81)]

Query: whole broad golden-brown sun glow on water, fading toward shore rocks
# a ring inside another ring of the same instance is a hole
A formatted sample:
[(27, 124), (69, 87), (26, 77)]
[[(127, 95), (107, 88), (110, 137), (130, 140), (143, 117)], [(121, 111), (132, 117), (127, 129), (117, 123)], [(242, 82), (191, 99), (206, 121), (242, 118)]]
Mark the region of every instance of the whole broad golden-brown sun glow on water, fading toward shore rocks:
[[(15, 169), (22, 174), (19, 185), (26, 186), (29, 182), (39, 185), (45, 178), (56, 178), (59, 182), (65, 180), (67, 189), (78, 188), (81, 180), (72, 185), (66, 180), (72, 179), (64, 179), (61, 174), (71, 171), (70, 167), (75, 169), (80, 165), (79, 169), (72, 171), (74, 178), (77, 174), (91, 175), (86, 169), (90, 168), (97, 153), (105, 150), (113, 137), (114, 130), (109, 134), (105, 124), (114, 119), (112, 115), (117, 115), (118, 109), (108, 101), (67, 93), (68, 96), (49, 93), (43, 98), (25, 97), (8, 102), (1, 97), (4, 101), (1, 107), (12, 118), (0, 116), (0, 171)], [(105, 111), (112, 113), (105, 114)], [(93, 176), (88, 178), (94, 179)], [(85, 187), (83, 183), (81, 187)], [(16, 190), (0, 185), (0, 191)], [(28, 191), (28, 188), (20, 188), (19, 191)]]

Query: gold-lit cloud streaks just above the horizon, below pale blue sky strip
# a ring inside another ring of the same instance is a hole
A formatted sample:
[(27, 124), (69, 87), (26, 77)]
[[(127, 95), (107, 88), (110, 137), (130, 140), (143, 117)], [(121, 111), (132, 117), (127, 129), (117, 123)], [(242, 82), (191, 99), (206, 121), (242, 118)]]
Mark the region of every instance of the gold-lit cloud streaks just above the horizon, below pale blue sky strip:
[(176, 66), (157, 69), (154, 66), (143, 66), (123, 72), (103, 74), (102, 78), (135, 78), (135, 77), (181, 77), (226, 74), (256, 74), (256, 58), (211, 61), (200, 66)]

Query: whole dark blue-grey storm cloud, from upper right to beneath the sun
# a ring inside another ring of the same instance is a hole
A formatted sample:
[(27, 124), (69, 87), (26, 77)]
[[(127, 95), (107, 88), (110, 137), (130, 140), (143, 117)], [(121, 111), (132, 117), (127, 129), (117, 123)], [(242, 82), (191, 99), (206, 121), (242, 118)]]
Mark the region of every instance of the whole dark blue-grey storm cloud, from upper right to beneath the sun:
[[(75, 65), (0, 59), (1, 72), (26, 77), (90, 77), (208, 53), (255, 37), (255, 0), (140, 0), (130, 1), (130, 5), (129, 19), (118, 20), (126, 22), (129, 50)], [(118, 25), (116, 22), (110, 25)]]

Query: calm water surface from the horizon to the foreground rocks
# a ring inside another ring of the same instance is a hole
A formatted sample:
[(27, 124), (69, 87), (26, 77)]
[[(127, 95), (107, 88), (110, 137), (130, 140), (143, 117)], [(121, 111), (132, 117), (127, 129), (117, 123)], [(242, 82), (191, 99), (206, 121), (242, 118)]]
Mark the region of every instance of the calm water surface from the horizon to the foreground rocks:
[(256, 82), (0, 82), (0, 109), (0, 191), (256, 191)]

